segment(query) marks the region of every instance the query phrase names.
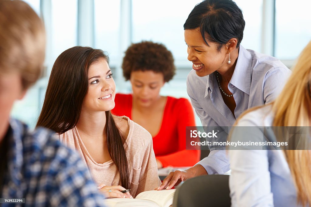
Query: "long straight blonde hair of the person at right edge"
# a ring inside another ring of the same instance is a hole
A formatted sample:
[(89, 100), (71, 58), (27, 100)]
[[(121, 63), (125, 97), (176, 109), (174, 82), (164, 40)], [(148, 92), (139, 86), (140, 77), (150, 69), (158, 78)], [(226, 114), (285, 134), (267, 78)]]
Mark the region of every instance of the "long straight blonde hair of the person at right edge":
[[(272, 126), (275, 127), (310, 126), (311, 41), (301, 52), (292, 70), (281, 94), (270, 103), (275, 114)], [(262, 107), (254, 107), (242, 113), (234, 126), (245, 114)], [(232, 131), (229, 137), (231, 134)], [(277, 136), (277, 139), (284, 141), (286, 138)], [(296, 186), (297, 203), (311, 206), (311, 151), (284, 150), (284, 153)]]

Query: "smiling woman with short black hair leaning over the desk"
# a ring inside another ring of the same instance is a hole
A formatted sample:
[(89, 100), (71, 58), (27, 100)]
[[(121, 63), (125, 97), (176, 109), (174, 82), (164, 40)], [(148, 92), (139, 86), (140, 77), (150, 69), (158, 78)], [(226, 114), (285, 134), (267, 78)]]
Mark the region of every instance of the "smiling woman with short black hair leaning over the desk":
[[(245, 110), (272, 102), (290, 75), (280, 60), (240, 44), (244, 26), (242, 10), (231, 0), (202, 1), (183, 25), (193, 63), (187, 92), (202, 126), (223, 129), (218, 141), (226, 140), (228, 128)], [(159, 190), (191, 177), (227, 172), (225, 147), (209, 147), (208, 157), (186, 171), (170, 173)]]

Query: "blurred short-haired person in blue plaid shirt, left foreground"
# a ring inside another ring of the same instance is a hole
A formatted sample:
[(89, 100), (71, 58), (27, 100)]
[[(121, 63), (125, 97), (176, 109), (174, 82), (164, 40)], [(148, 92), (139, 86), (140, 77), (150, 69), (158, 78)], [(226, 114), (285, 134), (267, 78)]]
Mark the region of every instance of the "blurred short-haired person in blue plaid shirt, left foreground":
[[(54, 132), (34, 131), (10, 118), (15, 100), (39, 78), (45, 31), (25, 2), (0, 0), (0, 200), (1, 206), (103, 206), (79, 155)], [(7, 199), (25, 198), (24, 203)]]

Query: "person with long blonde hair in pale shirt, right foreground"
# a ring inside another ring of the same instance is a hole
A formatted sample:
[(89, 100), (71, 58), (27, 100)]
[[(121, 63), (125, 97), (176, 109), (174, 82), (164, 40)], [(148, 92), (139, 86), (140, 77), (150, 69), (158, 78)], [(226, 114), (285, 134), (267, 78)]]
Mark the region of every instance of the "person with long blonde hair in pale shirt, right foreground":
[(287, 146), (281, 147), (283, 150), (229, 150), (232, 206), (311, 206), (310, 134), (307, 131), (304, 140), (300, 134), (293, 140), (284, 131), (304, 126), (309, 130), (311, 126), (310, 54), (311, 42), (300, 54), (278, 98), (272, 104), (247, 111), (237, 120), (231, 141), (241, 140), (240, 135), (246, 134), (254, 141), (262, 141), (262, 133), (245, 133), (239, 129), (241, 126), (273, 126), (273, 133), (265, 134), (267, 140), (287, 142)]

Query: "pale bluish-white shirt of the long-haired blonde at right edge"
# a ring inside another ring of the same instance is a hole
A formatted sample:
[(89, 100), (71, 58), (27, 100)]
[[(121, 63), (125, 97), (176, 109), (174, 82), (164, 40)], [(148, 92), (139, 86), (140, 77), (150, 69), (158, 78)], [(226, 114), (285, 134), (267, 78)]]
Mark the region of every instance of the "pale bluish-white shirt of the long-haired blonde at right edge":
[[(243, 116), (237, 126), (272, 126), (271, 105)], [(230, 141), (238, 141), (239, 130), (232, 130)], [(254, 141), (262, 141), (253, 133)], [(273, 140), (272, 137), (267, 137)], [(230, 148), (229, 148), (230, 149)], [(229, 150), (231, 206), (297, 205), (296, 188), (282, 150)]]

